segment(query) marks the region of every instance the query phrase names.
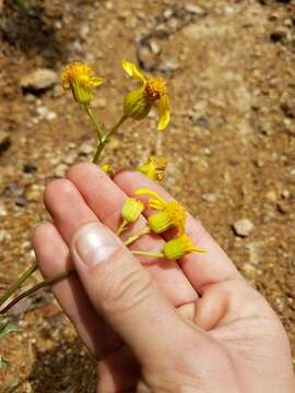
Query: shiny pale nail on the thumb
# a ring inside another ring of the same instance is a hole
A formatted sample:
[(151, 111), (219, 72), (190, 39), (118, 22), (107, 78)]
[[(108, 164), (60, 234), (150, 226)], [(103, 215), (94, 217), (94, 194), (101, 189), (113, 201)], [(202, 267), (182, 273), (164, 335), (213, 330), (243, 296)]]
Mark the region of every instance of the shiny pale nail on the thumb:
[(95, 265), (107, 260), (119, 247), (119, 241), (104, 225), (87, 224), (78, 230), (73, 248), (80, 260)]

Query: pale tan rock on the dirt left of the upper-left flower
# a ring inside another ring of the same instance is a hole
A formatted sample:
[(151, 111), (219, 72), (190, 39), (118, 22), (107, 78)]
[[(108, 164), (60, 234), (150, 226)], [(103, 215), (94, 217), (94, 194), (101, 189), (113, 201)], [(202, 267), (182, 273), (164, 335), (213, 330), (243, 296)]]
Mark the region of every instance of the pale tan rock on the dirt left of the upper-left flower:
[(26, 92), (38, 93), (51, 88), (57, 82), (57, 72), (49, 69), (38, 69), (21, 79), (21, 87)]

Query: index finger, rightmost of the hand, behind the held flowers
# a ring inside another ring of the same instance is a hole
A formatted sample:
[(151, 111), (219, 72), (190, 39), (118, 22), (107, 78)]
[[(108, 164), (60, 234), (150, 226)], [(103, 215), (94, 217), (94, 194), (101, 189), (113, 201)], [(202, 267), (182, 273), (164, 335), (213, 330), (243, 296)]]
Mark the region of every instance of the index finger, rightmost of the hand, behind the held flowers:
[[(141, 188), (148, 188), (157, 192), (164, 199), (173, 199), (160, 184), (151, 181), (140, 172), (131, 170), (119, 171), (114, 181), (128, 195), (134, 195), (134, 192)], [(141, 200), (146, 202), (149, 195), (142, 196)], [(151, 212), (146, 213), (148, 215)], [(193, 243), (206, 250), (203, 254), (189, 254), (179, 261), (179, 264), (189, 278), (190, 283), (202, 294), (210, 284), (222, 282), (231, 278), (240, 277), (233, 262), (227, 258), (225, 252), (208, 234), (199, 221), (191, 215), (187, 217), (187, 234), (191, 237)], [(167, 239), (169, 235), (167, 235)]]

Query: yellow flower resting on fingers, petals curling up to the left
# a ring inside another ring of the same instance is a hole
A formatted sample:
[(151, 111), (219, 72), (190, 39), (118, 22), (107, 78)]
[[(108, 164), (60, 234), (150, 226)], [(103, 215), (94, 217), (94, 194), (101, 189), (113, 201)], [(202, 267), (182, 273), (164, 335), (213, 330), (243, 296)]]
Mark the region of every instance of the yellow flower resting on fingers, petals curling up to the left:
[(152, 214), (148, 218), (149, 226), (154, 233), (162, 234), (170, 227), (176, 227), (179, 235), (185, 233), (186, 211), (180, 203), (176, 201), (165, 201), (156, 192), (149, 189), (140, 189), (135, 194), (154, 196), (149, 200), (149, 207), (160, 212)]

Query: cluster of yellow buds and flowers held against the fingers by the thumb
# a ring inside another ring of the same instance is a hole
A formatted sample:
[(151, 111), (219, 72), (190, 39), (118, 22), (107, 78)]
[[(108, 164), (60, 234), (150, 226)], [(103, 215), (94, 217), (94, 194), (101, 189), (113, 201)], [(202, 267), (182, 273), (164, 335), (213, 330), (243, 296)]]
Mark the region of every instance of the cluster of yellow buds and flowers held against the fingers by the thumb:
[[(166, 201), (164, 198), (158, 195), (155, 191), (149, 189), (140, 189), (135, 192), (135, 195), (151, 195), (152, 198), (148, 201), (148, 207), (156, 210), (156, 213), (152, 213), (148, 217), (148, 227), (141, 229), (139, 233), (131, 235), (127, 240), (126, 245), (130, 245), (134, 240), (138, 240), (141, 236), (155, 233), (163, 234), (170, 228), (177, 230), (177, 235), (168, 240), (163, 250), (160, 253), (155, 253), (156, 258), (167, 258), (176, 261), (181, 259), (191, 252), (205, 252), (204, 249), (197, 248), (193, 246), (191, 239), (186, 235), (186, 210), (177, 201)], [(134, 198), (128, 198), (122, 206), (121, 216), (123, 218), (122, 225), (119, 227), (117, 234), (122, 233), (121, 228), (126, 229), (127, 224), (134, 223), (143, 211), (143, 204), (141, 201)], [(134, 253), (153, 255), (153, 253), (146, 251), (132, 251)]]

